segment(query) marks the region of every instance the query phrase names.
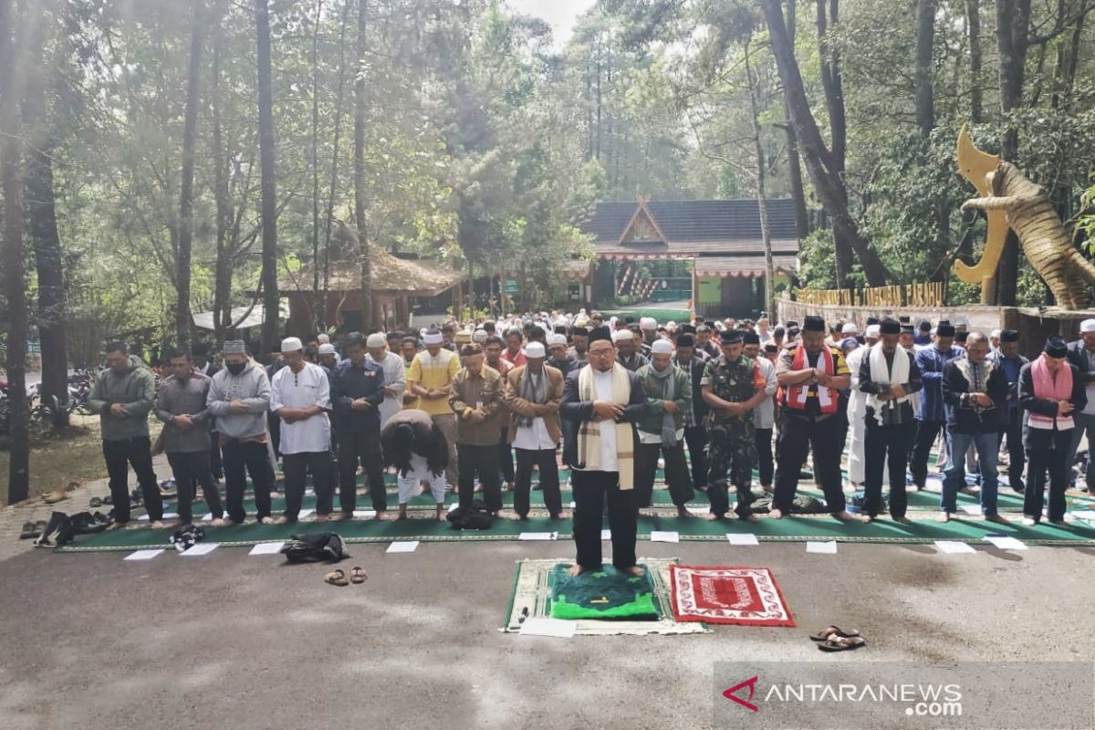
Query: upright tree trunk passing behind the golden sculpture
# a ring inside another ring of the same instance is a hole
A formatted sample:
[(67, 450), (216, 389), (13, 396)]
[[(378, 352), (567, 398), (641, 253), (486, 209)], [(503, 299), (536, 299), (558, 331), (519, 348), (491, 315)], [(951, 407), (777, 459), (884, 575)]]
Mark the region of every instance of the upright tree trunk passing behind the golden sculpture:
[[(996, 47), (1000, 51), (1000, 111), (1004, 130), (1000, 157), (1018, 161), (1018, 130), (1008, 116), (1023, 106), (1023, 81), (1026, 69), (1027, 39), (1030, 26), (1030, 0), (996, 0)], [(1007, 231), (996, 273), (996, 303), (1014, 306), (1019, 273), (1019, 242)]]

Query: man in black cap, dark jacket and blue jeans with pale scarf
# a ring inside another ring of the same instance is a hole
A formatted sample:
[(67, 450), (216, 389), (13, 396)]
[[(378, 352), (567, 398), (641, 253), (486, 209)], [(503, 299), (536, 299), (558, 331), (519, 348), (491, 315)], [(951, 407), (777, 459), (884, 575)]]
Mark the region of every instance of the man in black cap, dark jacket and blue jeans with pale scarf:
[(966, 357), (943, 366), (943, 402), (947, 408), (947, 451), (958, 454), (947, 465), (940, 501), (941, 522), (958, 511), (958, 490), (966, 486), (965, 461), (970, 444), (981, 470), (981, 513), (989, 522), (1007, 524), (996, 511), (999, 422), (1007, 417), (1007, 376), (989, 359), (989, 340), (979, 333), (966, 338)]

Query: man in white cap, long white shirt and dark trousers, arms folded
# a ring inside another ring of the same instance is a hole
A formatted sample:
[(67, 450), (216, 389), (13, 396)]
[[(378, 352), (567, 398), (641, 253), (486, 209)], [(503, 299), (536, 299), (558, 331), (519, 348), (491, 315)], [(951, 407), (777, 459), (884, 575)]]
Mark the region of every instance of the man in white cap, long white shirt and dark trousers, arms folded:
[[(315, 490), (315, 519), (323, 522), (334, 505), (331, 420), (327, 418), (331, 381), (322, 367), (304, 359), (303, 345), (297, 337), (281, 340), (281, 355), (286, 367), (274, 375), (270, 383), (270, 410), (281, 420), (281, 464), (285, 471), (285, 512), (275, 523), (297, 521), (304, 501), (308, 473), (312, 475), (312, 488)], [(365, 360), (364, 352), (361, 360)]]

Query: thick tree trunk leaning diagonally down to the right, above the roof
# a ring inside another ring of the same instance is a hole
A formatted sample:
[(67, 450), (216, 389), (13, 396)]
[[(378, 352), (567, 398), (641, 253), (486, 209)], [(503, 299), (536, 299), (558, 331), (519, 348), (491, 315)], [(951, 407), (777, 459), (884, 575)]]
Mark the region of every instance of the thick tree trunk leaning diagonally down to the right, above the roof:
[[(821, 139), (821, 132), (818, 130), (814, 113), (806, 99), (803, 77), (798, 70), (798, 62), (795, 60), (791, 39), (787, 37), (781, 4), (780, 0), (763, 0), (764, 18), (769, 26), (772, 53), (775, 56), (780, 80), (783, 83), (784, 99), (791, 112), (791, 123), (795, 128), (795, 136), (803, 160), (806, 162), (807, 172), (818, 197), (832, 217), (833, 232), (843, 235), (855, 252), (867, 277), (867, 282), (873, 287), (884, 286), (889, 278), (889, 271), (878, 258), (878, 254), (860, 234), (858, 227), (848, 210), (843, 181), (833, 171), (835, 164), (833, 154)], [(843, 170), (842, 165), (840, 170)]]

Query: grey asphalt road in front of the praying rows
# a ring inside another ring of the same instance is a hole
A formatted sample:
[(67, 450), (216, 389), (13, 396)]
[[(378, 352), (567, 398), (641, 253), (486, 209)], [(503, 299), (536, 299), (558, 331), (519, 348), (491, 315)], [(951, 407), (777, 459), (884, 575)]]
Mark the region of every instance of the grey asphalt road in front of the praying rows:
[[(798, 628), (566, 640), (497, 628), (514, 560), (573, 545), (384, 547), (350, 546), (343, 566), (370, 577), (347, 588), (245, 548), (3, 560), (0, 728), (707, 728), (716, 661), (1095, 658), (1088, 548), (644, 543), (649, 557), (771, 568)], [(807, 634), (830, 623), (868, 646), (819, 652)]]

